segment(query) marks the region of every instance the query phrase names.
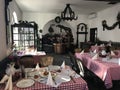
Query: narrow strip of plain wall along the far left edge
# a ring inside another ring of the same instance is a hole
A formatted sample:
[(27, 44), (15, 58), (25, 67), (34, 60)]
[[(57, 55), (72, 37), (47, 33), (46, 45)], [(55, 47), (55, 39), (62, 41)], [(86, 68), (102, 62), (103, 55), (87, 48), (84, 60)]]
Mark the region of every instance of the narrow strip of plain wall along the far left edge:
[(6, 57), (6, 50), (4, 0), (0, 0), (0, 60)]

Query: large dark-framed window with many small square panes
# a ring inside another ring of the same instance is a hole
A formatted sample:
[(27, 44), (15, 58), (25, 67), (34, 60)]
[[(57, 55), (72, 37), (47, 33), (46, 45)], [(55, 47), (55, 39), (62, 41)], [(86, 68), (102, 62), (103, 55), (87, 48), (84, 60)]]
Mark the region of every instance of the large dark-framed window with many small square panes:
[(26, 50), (28, 47), (37, 47), (37, 30), (31, 23), (21, 22), (13, 24), (12, 42), (16, 50)]

